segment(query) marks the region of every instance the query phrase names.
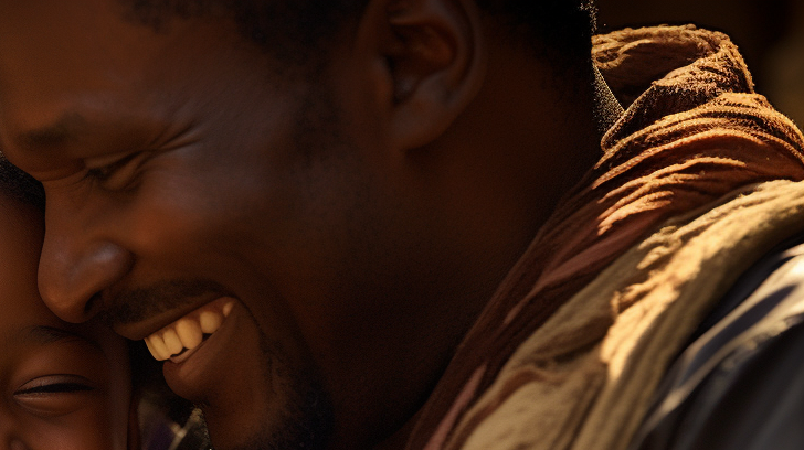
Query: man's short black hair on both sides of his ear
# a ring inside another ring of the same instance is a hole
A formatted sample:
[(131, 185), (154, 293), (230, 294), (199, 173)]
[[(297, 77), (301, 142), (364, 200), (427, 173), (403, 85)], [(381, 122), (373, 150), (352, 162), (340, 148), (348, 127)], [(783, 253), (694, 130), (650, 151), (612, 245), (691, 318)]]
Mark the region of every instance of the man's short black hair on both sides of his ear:
[[(326, 42), (356, 21), (369, 0), (120, 0), (130, 19), (155, 29), (171, 17), (212, 11), (232, 17), (241, 33), (281, 61), (308, 64)], [(591, 62), (594, 0), (477, 0), (484, 11), (506, 20), (511, 31), (553, 60)]]

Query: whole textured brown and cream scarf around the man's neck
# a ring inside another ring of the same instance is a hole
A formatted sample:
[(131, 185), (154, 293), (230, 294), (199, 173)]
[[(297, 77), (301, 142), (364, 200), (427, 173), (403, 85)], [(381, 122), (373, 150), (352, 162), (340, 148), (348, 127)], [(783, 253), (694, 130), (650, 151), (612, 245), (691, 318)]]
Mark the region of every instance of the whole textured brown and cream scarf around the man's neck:
[(624, 448), (712, 303), (804, 231), (804, 138), (726, 35), (623, 30), (593, 58), (630, 106), (458, 347), (410, 450)]

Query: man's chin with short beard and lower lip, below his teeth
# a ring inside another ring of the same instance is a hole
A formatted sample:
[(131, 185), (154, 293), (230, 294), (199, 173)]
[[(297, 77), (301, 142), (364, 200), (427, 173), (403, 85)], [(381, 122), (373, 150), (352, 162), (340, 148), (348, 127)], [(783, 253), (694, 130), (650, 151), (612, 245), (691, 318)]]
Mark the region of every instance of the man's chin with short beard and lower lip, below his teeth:
[(313, 371), (277, 351), (240, 303), (224, 315), (200, 345), (162, 366), (171, 390), (202, 410), (214, 448), (326, 448), (330, 401)]

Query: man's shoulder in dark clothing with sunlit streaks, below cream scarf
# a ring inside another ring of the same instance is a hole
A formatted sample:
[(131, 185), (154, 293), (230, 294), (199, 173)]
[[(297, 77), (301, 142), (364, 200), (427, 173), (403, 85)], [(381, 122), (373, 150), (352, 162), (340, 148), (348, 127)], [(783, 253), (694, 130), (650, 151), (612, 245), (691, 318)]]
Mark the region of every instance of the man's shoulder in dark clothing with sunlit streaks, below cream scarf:
[(632, 449), (804, 447), (802, 242), (759, 260), (701, 323)]

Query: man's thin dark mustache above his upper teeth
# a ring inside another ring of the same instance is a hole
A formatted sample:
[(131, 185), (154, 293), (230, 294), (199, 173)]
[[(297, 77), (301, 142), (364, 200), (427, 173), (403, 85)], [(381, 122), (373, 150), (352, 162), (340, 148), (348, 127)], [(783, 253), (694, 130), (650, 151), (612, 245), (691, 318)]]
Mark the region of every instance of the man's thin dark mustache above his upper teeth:
[(120, 292), (104, 301), (102, 320), (109, 326), (141, 322), (156, 314), (181, 308), (199, 297), (231, 296), (221, 285), (207, 278), (180, 278), (155, 282)]

